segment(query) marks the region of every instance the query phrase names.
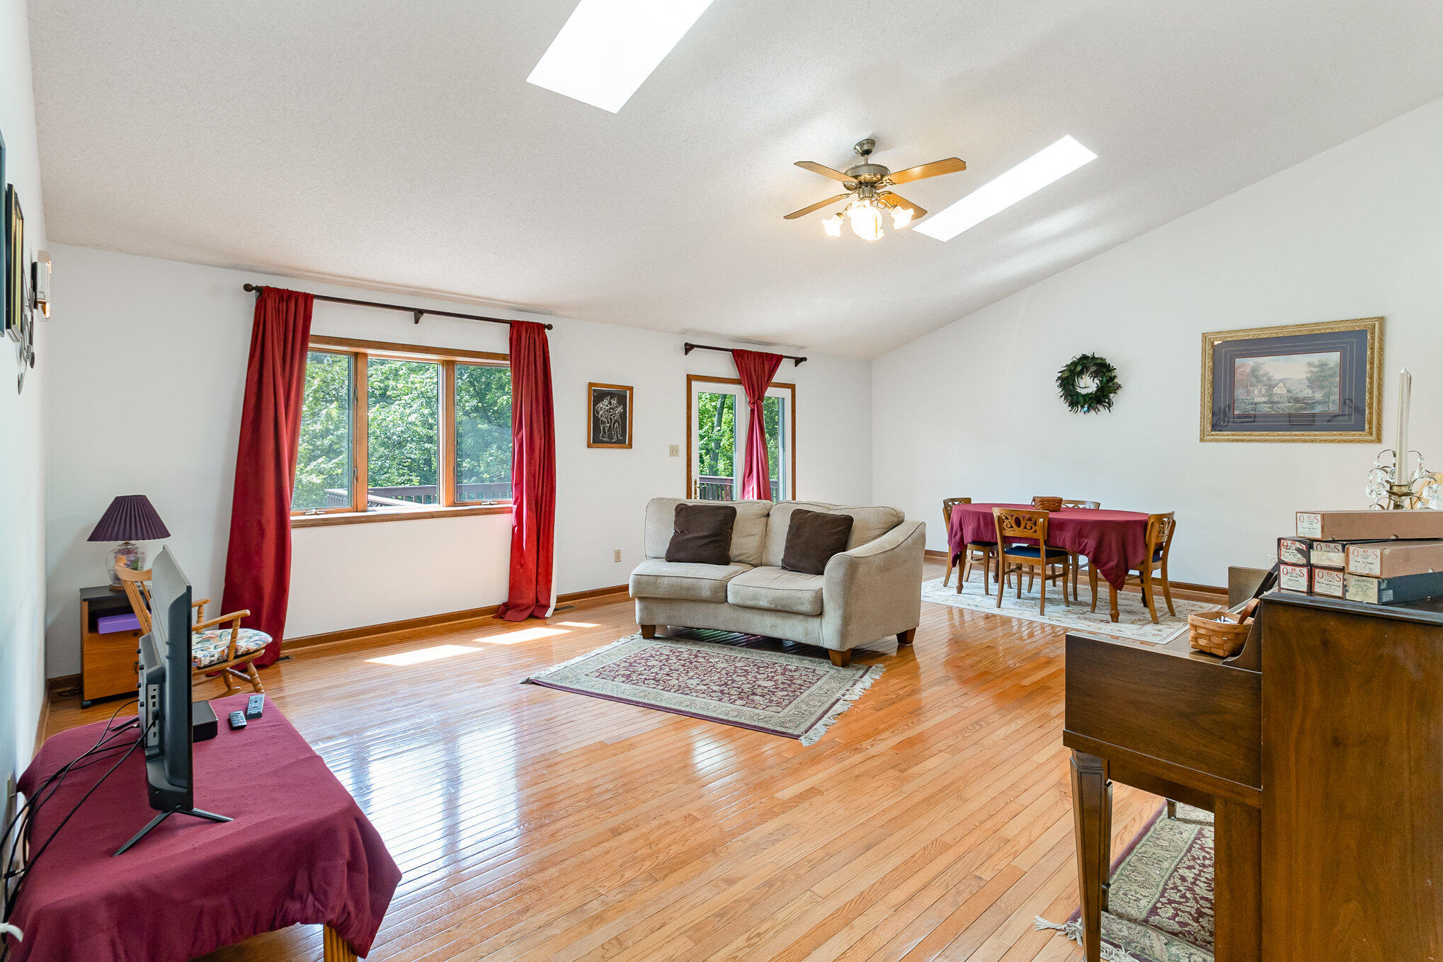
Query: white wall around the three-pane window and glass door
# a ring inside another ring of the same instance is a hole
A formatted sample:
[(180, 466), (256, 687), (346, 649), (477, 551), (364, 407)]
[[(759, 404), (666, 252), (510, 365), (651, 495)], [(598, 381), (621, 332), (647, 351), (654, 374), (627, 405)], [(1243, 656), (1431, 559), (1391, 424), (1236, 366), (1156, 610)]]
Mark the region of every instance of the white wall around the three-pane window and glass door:
[[(63, 320), (46, 385), (48, 668), (79, 671), (79, 587), (104, 581), (111, 545), (89, 534), (115, 495), (144, 493), (196, 590), (219, 600), (254, 296), (245, 281), (400, 303), (449, 301), (55, 245)], [(505, 317), (517, 312), (476, 310)], [(734, 376), (726, 355), (683, 356), (685, 337), (545, 317), (557, 431), (557, 591), (623, 584), (641, 555), (642, 509), (685, 489), (685, 376)], [(506, 350), (501, 325), (317, 303), (313, 332)], [(700, 337), (697, 337), (700, 339)], [(713, 342), (714, 339), (707, 337)], [(724, 343), (724, 342), (723, 342)], [(797, 382), (798, 493), (870, 500), (870, 365), (817, 356)], [(587, 449), (589, 381), (635, 385), (631, 450)], [(668, 446), (683, 456), (670, 457)], [(377, 625), (505, 599), (509, 515), (303, 528), (294, 532), (287, 633)], [(159, 545), (146, 545), (149, 552)], [(622, 561), (612, 551), (622, 550)]]

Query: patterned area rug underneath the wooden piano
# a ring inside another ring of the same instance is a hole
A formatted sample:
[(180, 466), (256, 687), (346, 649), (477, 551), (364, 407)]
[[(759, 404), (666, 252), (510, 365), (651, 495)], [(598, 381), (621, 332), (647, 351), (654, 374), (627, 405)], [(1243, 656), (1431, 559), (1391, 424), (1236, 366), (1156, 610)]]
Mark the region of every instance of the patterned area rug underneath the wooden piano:
[[(1212, 813), (1186, 805), (1177, 818), (1163, 811), (1113, 868), (1102, 913), (1108, 962), (1212, 962)], [(1036, 926), (1082, 942), (1079, 914)]]

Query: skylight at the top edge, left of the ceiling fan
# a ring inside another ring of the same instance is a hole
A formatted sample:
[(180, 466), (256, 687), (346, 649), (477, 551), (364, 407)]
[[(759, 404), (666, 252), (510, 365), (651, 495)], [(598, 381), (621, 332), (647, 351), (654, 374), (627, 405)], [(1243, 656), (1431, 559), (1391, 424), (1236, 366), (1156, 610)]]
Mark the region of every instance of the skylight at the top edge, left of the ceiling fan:
[(528, 82), (613, 114), (711, 0), (582, 0)]

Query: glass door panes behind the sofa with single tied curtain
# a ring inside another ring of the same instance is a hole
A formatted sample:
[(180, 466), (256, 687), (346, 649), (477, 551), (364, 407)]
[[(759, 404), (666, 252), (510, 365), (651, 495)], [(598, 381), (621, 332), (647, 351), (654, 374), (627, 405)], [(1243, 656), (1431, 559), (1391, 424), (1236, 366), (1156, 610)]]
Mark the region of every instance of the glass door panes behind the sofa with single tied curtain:
[[(687, 376), (687, 498), (736, 500), (750, 408), (734, 378)], [(773, 384), (762, 400), (772, 500), (797, 498), (797, 387)]]

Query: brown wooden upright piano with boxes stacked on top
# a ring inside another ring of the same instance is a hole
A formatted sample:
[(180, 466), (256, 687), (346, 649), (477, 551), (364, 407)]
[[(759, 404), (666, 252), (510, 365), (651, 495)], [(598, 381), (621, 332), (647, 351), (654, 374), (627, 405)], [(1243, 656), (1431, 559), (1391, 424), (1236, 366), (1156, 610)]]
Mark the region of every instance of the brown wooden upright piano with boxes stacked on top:
[(1215, 958), (1443, 959), (1443, 599), (1274, 591), (1231, 659), (1066, 637), (1084, 949), (1111, 782), (1215, 816)]

